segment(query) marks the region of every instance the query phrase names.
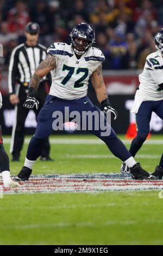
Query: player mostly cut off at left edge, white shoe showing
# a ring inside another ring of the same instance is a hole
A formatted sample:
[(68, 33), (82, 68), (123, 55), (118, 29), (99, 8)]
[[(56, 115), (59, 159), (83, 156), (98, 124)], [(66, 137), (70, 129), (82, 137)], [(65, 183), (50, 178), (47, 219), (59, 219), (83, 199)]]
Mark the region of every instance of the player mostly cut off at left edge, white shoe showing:
[[(2, 95), (0, 92), (0, 108), (2, 107)], [(4, 187), (18, 187), (20, 186), (17, 182), (11, 179), (10, 177), (10, 168), (9, 168), (9, 157), (5, 152), (3, 147), (2, 132), (0, 125), (0, 174), (2, 176)]]

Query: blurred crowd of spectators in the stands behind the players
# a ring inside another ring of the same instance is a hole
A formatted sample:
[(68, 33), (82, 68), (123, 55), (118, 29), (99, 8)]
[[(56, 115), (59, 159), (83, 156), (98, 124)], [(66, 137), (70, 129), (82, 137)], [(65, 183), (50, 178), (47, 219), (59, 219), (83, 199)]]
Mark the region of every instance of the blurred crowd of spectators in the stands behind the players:
[(8, 69), (10, 54), (24, 42), (29, 21), (40, 25), (39, 42), (70, 44), (72, 28), (89, 22), (96, 31), (96, 47), (106, 61), (104, 69), (142, 69), (155, 51), (153, 35), (163, 27), (162, 0), (0, 0), (1, 67)]

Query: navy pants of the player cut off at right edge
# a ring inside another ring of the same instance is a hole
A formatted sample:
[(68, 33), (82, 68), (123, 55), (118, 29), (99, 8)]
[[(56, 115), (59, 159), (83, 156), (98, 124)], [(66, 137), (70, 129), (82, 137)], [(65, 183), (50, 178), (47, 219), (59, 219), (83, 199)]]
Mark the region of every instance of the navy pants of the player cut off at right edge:
[(129, 152), (135, 156), (137, 151), (146, 141), (149, 132), (149, 124), (152, 112), (155, 112), (163, 120), (163, 100), (143, 101), (136, 114), (137, 136), (131, 142)]

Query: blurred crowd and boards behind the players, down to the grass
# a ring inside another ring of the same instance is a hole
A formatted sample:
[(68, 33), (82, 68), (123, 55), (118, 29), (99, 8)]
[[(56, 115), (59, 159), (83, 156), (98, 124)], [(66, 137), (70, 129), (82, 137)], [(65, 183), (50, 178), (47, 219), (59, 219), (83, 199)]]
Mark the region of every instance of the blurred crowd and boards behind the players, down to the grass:
[[(0, 42), (3, 45), (3, 57), (0, 58), (3, 94), (1, 123), (4, 134), (11, 134), (14, 121), (14, 106), (8, 97), (10, 54), (15, 46), (26, 40), (24, 27), (29, 21), (39, 23), (39, 42), (46, 47), (56, 41), (70, 44), (68, 34), (72, 28), (80, 22), (91, 23), (96, 32), (95, 46), (106, 57), (103, 75), (109, 99), (120, 113), (117, 121), (112, 122), (112, 127), (117, 133), (126, 133), (129, 124), (134, 122), (130, 108), (139, 86), (138, 75), (146, 56), (155, 51), (154, 34), (163, 27), (161, 0), (1, 0), (0, 21)], [(99, 106), (91, 84), (88, 94), (92, 102)], [(35, 116), (30, 111), (26, 121), (27, 134), (33, 133), (35, 126)], [(162, 133), (162, 128), (162, 120), (153, 114), (151, 132)]]

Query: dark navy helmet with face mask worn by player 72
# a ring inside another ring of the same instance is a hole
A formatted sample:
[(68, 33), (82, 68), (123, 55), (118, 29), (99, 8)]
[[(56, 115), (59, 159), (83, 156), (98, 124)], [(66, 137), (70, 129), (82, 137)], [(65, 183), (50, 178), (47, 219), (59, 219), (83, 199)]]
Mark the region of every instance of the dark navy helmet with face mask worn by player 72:
[(73, 51), (82, 55), (95, 41), (95, 33), (87, 23), (79, 23), (70, 33)]

